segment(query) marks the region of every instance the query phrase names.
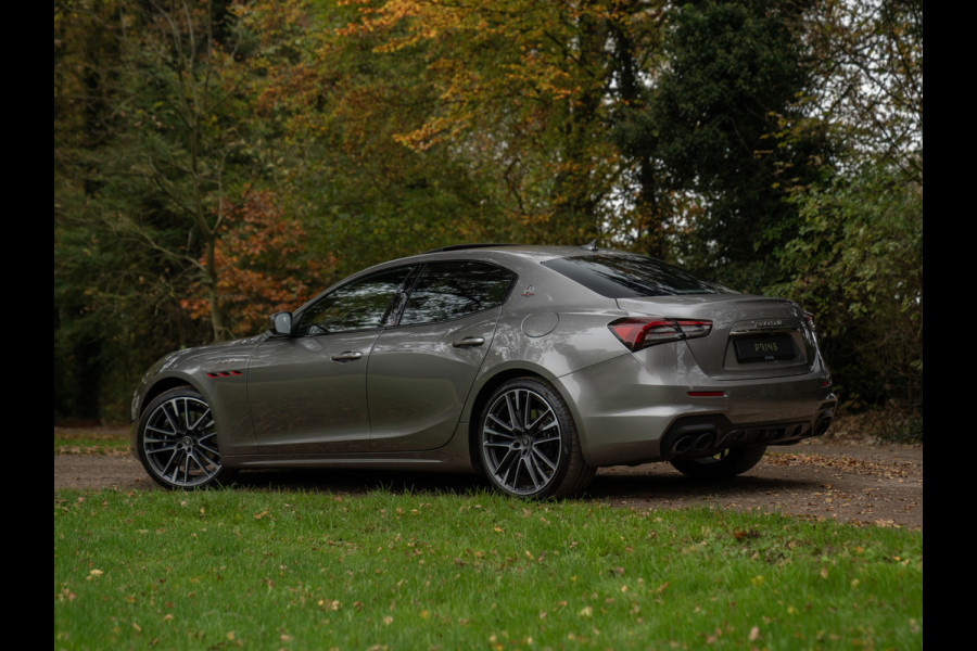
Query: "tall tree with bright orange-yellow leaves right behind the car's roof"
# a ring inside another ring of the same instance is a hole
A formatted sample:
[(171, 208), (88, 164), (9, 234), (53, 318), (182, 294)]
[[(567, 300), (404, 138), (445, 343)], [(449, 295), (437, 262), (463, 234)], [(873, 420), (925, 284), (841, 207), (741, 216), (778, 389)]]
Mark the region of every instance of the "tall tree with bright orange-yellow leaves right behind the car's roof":
[(386, 0), (364, 7), (343, 34), (423, 62), (415, 77), (431, 88), (423, 118), (395, 139), (419, 153), (443, 148), (471, 170), (497, 206), (492, 231), (584, 242), (620, 221), (630, 162), (606, 129), (633, 99), (658, 7)]

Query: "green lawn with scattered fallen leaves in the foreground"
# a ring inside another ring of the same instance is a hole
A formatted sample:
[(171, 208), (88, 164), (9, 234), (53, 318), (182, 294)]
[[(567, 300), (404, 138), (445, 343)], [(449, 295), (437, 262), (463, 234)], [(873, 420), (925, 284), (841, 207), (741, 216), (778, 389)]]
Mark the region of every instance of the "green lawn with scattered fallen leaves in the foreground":
[(494, 494), (59, 492), (55, 649), (921, 649), (921, 532)]

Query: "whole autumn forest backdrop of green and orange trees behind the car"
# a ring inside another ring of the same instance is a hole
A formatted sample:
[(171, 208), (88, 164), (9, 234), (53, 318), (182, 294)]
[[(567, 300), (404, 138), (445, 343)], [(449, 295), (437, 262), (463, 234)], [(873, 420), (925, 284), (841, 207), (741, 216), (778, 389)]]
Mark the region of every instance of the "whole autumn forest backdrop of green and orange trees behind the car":
[(922, 438), (922, 0), (55, 0), (55, 421), (464, 242), (652, 255), (812, 312)]

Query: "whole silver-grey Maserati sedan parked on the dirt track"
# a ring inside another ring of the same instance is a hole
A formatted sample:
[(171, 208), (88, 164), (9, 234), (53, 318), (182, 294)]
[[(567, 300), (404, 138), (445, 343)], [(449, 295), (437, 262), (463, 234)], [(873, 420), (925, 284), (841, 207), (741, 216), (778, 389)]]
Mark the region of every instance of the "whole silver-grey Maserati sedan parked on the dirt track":
[(836, 407), (811, 316), (654, 258), (454, 246), (360, 271), (257, 336), (178, 350), (132, 399), (167, 488), (261, 468), (481, 472), (584, 489), (597, 468), (748, 471)]

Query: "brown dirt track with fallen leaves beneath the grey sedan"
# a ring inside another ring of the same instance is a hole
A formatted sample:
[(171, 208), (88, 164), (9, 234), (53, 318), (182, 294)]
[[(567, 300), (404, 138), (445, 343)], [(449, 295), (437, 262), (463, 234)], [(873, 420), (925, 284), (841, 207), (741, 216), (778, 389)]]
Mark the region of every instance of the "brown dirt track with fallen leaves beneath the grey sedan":
[[(475, 475), (366, 471), (250, 471), (238, 484), (276, 490), (413, 493), (487, 486)], [(54, 457), (54, 489), (162, 490), (130, 456)], [(706, 507), (776, 511), (812, 520), (923, 528), (923, 446), (822, 437), (771, 447), (748, 473), (693, 482), (668, 463), (601, 469), (583, 499), (637, 511)]]

